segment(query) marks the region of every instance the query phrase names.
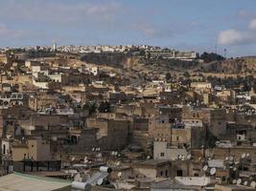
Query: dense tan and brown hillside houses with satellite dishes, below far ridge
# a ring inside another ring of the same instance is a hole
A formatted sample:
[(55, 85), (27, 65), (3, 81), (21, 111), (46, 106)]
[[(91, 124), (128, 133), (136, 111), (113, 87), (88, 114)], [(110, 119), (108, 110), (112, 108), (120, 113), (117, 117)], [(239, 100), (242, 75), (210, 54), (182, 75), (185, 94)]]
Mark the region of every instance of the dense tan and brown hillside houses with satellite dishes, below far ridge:
[(0, 58), (1, 175), (73, 180), (78, 190), (255, 190), (253, 88), (127, 85), (72, 58)]

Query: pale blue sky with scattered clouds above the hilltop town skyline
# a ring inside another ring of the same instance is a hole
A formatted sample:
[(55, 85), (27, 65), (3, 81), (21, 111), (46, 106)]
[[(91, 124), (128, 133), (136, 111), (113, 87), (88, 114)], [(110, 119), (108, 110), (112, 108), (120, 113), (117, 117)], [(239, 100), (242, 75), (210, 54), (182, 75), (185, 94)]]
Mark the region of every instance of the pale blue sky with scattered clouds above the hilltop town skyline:
[(0, 0), (0, 46), (153, 45), (256, 55), (255, 0)]

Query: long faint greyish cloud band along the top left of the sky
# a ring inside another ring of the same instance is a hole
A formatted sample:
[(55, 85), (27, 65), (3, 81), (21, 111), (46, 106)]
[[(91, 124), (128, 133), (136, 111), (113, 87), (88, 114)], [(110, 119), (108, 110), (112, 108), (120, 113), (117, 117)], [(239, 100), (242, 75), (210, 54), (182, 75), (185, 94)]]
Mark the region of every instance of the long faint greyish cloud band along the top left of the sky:
[[(8, 1), (1, 5), (1, 18), (19, 19), (46, 23), (86, 23), (112, 22), (118, 13), (120, 5), (108, 3), (72, 3), (66, 4), (57, 1)], [(12, 10), (12, 11), (11, 11)], [(13, 13), (14, 12), (14, 13)]]

